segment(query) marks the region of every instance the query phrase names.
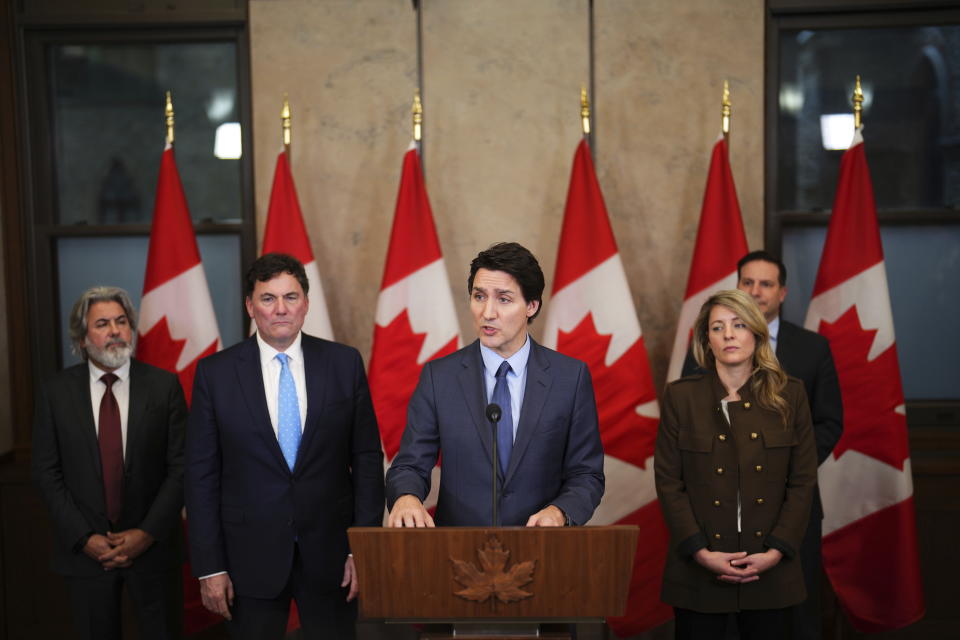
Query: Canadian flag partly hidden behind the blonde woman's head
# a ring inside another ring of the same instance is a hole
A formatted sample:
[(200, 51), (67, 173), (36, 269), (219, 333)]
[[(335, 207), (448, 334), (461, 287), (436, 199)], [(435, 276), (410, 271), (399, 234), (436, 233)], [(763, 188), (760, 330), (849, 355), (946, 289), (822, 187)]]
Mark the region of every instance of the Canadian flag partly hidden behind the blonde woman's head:
[(700, 307), (710, 294), (737, 287), (737, 262), (747, 254), (747, 236), (743, 232), (737, 188), (730, 170), (727, 141), (720, 137), (713, 145), (707, 188), (700, 209), (700, 227), (693, 249), (687, 292), (683, 296), (677, 335), (673, 340), (667, 382), (676, 380), (683, 371), (683, 361), (690, 348), (690, 332)]

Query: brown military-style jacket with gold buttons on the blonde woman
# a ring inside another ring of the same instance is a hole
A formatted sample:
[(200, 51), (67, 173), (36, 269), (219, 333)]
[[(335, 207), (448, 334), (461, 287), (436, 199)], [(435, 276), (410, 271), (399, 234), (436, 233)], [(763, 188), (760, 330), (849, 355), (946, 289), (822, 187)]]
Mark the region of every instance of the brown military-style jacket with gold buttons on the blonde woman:
[[(654, 470), (670, 529), (660, 597), (703, 613), (776, 609), (806, 598), (797, 550), (810, 517), (817, 454), (803, 383), (790, 378), (791, 419), (757, 404), (747, 382), (727, 406), (715, 371), (669, 384), (663, 396)], [(737, 529), (737, 501), (740, 530)], [(783, 559), (754, 582), (721, 582), (693, 554), (760, 553)]]

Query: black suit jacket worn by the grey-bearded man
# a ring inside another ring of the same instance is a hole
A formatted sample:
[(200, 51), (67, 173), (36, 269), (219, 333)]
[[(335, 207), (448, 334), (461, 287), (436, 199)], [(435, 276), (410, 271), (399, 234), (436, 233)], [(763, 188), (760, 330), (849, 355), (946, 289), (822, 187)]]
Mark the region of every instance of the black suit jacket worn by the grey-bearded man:
[[(103, 568), (83, 553), (89, 534), (104, 534), (110, 526), (93, 411), (86, 362), (61, 371), (37, 393), (33, 477), (53, 521), (51, 567), (66, 576), (103, 573)], [(177, 377), (133, 360), (123, 511), (116, 529), (143, 529), (156, 540), (134, 560), (134, 571), (169, 570), (181, 561), (186, 419)]]

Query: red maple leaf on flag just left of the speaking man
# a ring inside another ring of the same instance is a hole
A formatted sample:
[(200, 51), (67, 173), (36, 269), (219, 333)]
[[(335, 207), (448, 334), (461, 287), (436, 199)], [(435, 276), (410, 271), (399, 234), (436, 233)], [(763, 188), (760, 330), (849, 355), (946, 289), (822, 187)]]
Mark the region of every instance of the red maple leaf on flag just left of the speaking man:
[[(403, 437), (403, 428), (407, 421), (407, 402), (413, 395), (420, 377), (421, 364), (417, 363), (417, 356), (423, 347), (427, 334), (417, 333), (410, 325), (408, 310), (404, 309), (390, 324), (385, 327), (374, 325), (374, 344), (390, 345), (390, 349), (377, 351), (374, 367), (370, 361), (370, 388), (373, 394), (373, 408), (377, 414), (377, 424), (381, 427), (383, 450), (388, 459), (392, 459), (400, 450), (400, 439)], [(453, 353), (457, 349), (457, 336), (443, 345), (428, 360)], [(378, 374), (389, 371), (391, 384), (380, 384)], [(384, 428), (384, 427), (395, 428)]]

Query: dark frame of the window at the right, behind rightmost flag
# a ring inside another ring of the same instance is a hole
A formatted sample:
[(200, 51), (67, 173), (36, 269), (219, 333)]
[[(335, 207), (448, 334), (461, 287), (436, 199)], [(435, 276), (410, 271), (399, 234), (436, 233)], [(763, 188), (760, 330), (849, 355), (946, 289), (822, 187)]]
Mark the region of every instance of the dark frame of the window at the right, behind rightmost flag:
[[(782, 31), (801, 29), (856, 29), (923, 25), (958, 25), (956, 2), (907, 4), (897, 0), (767, 0), (764, 61), (764, 246), (780, 254), (784, 231), (790, 228), (825, 228), (829, 212), (779, 210), (778, 116), (780, 88), (780, 37)], [(953, 209), (878, 209), (881, 227), (960, 226), (960, 211)], [(960, 426), (960, 397), (944, 400), (907, 400), (911, 427)]]

